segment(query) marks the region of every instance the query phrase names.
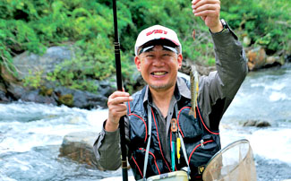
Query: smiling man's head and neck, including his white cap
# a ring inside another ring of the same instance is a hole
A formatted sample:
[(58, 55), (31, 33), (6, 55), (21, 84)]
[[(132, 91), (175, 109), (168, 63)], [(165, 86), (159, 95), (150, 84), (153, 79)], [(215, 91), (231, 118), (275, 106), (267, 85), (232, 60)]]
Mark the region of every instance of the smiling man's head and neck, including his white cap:
[(152, 99), (165, 117), (175, 90), (178, 69), (182, 66), (181, 51), (175, 31), (160, 25), (142, 30), (135, 44), (135, 65), (149, 84)]

